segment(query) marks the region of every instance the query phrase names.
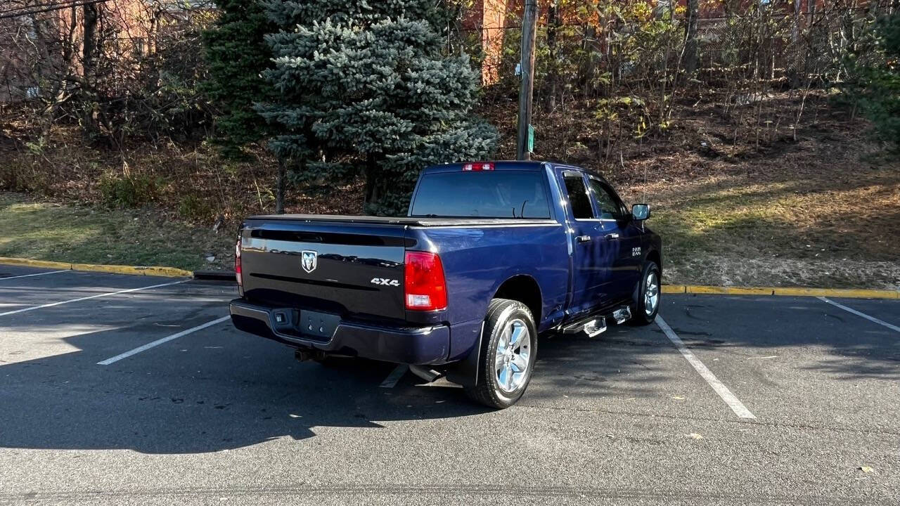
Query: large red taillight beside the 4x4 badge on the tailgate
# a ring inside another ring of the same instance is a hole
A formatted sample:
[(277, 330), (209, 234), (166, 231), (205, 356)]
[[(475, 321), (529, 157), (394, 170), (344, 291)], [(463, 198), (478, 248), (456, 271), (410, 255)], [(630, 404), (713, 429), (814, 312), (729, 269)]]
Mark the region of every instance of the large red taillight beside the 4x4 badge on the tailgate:
[(403, 293), (406, 309), (437, 311), (447, 307), (446, 281), (441, 258), (428, 251), (407, 251)]

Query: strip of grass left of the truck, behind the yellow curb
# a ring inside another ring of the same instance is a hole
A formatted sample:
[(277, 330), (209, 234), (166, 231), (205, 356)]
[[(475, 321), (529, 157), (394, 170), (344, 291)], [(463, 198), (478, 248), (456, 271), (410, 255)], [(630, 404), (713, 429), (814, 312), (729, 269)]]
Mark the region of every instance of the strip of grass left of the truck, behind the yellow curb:
[[(230, 268), (236, 230), (167, 221), (157, 212), (31, 202), (0, 194), (0, 257), (86, 264)], [(206, 254), (213, 253), (214, 262)]]

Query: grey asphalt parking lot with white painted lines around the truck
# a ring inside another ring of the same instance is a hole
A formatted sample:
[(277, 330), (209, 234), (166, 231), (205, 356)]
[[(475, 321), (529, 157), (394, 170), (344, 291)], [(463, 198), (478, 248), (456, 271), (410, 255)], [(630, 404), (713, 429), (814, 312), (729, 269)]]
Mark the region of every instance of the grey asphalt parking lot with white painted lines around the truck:
[(900, 301), (666, 295), (486, 411), (233, 285), (50, 272), (0, 266), (0, 504), (900, 504)]

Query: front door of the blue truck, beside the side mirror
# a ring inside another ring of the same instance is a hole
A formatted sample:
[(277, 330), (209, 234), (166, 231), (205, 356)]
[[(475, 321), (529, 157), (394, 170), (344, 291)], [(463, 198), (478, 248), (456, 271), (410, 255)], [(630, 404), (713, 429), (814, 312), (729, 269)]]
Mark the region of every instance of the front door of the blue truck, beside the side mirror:
[(590, 193), (594, 197), (605, 243), (615, 251), (610, 266), (610, 302), (629, 299), (641, 277), (644, 252), (641, 230), (616, 192), (597, 177), (590, 177)]

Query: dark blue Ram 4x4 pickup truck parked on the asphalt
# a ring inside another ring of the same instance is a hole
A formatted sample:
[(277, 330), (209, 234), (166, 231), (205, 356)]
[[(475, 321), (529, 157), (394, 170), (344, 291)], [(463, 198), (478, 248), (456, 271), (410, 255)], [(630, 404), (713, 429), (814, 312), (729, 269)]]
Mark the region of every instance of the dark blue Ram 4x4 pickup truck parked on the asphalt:
[(579, 167), (428, 167), (403, 218), (247, 218), (231, 320), (301, 359), (409, 364), (506, 408), (540, 336), (656, 317), (662, 244), (649, 217)]

